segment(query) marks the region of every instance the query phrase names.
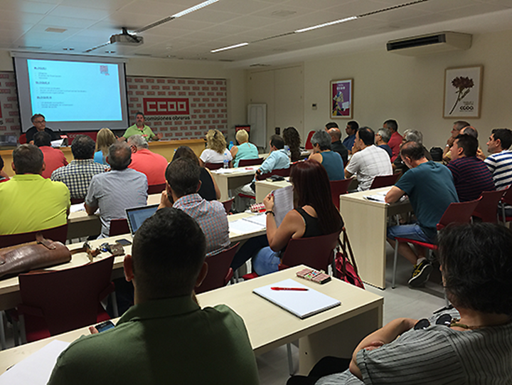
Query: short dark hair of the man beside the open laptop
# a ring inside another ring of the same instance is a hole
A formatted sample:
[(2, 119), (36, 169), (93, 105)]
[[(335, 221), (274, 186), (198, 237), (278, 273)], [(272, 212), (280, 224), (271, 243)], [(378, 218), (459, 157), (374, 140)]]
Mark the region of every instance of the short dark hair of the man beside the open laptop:
[(178, 197), (195, 194), (200, 179), (201, 167), (191, 159), (179, 158), (167, 165), (167, 183)]

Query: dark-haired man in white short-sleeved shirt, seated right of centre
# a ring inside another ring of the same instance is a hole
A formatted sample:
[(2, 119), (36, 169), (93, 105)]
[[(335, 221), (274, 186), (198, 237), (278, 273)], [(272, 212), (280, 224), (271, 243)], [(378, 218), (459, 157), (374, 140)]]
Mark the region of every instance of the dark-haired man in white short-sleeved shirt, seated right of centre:
[(357, 175), (358, 191), (370, 189), (375, 176), (393, 174), (388, 153), (375, 146), (374, 140), (375, 134), (370, 127), (361, 127), (356, 132), (352, 157), (345, 167), (345, 177)]

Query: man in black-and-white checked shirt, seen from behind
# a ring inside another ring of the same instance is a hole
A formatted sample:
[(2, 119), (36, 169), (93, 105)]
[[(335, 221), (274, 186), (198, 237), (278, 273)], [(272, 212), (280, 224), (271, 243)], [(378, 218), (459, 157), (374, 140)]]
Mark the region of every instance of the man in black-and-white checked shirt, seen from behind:
[(105, 167), (93, 159), (95, 147), (95, 141), (90, 137), (77, 135), (71, 144), (75, 159), (51, 174), (51, 180), (61, 181), (68, 186), (71, 199), (85, 199), (92, 176), (105, 172)]

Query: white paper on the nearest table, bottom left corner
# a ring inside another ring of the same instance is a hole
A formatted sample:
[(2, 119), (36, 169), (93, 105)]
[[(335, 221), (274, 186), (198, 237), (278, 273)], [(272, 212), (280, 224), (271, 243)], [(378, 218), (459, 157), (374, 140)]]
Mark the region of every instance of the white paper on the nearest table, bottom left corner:
[(69, 344), (55, 339), (2, 374), (0, 385), (46, 385), (59, 354)]

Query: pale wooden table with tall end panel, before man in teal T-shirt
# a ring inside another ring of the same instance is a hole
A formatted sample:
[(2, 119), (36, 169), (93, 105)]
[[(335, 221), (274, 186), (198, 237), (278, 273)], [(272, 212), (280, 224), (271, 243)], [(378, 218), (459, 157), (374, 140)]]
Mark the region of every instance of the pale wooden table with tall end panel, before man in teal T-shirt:
[(368, 201), (363, 196), (390, 187), (358, 191), (340, 196), (340, 213), (363, 282), (385, 288), (386, 229), (388, 216), (412, 211), (408, 200), (396, 204)]

